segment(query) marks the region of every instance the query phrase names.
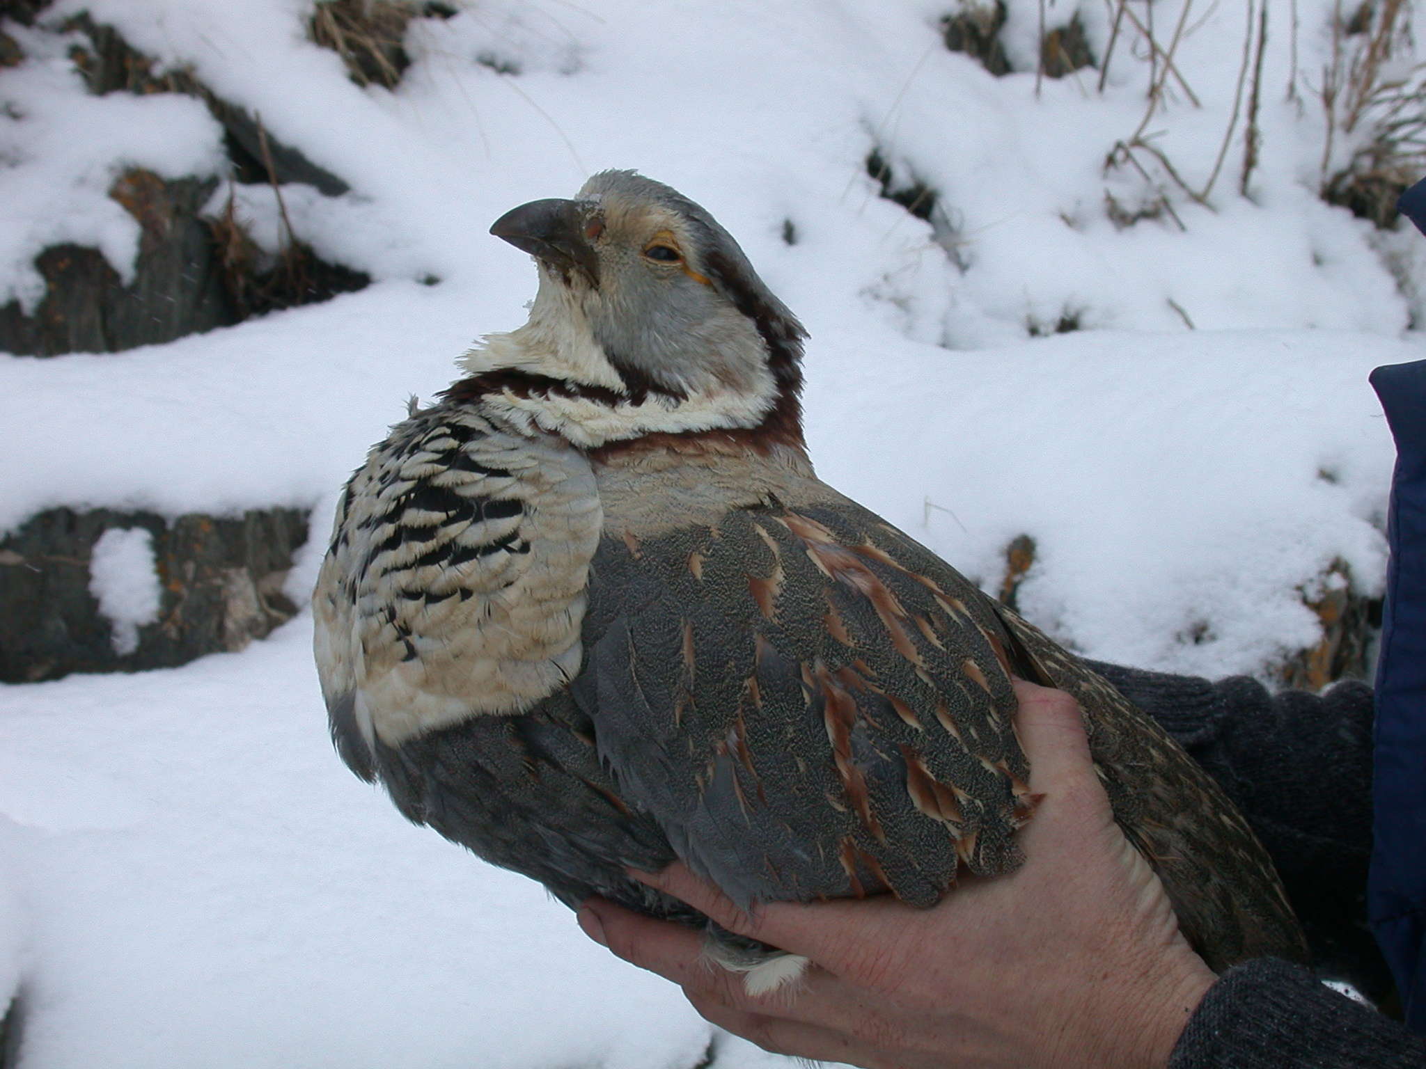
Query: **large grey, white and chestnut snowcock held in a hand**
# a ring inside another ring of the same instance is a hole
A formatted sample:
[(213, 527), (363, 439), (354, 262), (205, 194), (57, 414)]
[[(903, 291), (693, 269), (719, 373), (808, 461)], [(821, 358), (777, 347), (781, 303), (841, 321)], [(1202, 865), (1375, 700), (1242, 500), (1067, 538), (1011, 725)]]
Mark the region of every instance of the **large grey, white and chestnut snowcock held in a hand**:
[(347, 764), (575, 907), (709, 925), (750, 991), (801, 959), (630, 879), (894, 894), (1020, 861), (1011, 677), (1078, 698), (1128, 840), (1215, 969), (1302, 956), (1266, 852), (1107, 681), (817, 480), (806, 332), (702, 207), (632, 171), (533, 201), (529, 321), (371, 449), (314, 599)]

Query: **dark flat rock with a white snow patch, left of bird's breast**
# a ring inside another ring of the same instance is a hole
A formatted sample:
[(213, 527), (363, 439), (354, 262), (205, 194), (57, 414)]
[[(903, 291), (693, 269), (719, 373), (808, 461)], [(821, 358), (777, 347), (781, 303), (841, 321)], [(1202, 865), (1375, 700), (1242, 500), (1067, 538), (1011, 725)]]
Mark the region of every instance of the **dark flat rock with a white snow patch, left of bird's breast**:
[[(309, 513), (254, 509), (240, 517), (48, 509), (0, 540), (0, 680), (30, 683), (71, 671), (140, 671), (241, 650), (291, 619), (282, 594)], [(90, 593), (90, 560), (106, 530), (153, 536), (161, 584), (158, 620), (138, 647), (114, 649)]]

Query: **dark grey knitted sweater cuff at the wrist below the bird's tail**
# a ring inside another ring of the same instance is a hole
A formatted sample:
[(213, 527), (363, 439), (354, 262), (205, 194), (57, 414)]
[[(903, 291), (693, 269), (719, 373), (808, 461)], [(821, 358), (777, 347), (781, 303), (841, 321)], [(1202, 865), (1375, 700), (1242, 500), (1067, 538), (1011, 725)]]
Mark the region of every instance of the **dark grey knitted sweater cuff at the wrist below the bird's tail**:
[(1422, 1069), (1426, 1039), (1296, 965), (1225, 972), (1179, 1036), (1169, 1069)]

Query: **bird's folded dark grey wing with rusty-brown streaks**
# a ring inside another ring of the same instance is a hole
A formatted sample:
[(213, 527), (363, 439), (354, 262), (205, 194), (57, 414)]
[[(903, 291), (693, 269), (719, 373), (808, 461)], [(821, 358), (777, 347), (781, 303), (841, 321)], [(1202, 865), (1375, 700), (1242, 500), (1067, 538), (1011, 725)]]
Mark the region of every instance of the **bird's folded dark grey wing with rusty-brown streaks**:
[(575, 698), (627, 797), (740, 902), (1001, 872), (1028, 815), (1005, 633), (844, 499), (609, 537)]

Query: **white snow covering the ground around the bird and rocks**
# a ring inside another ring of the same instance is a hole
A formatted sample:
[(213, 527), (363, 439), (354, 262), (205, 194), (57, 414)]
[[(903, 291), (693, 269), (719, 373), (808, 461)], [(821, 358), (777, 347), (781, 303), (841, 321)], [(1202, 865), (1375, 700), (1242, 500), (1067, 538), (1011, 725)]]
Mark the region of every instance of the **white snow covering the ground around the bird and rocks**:
[[(1165, 185), (1182, 228), (1127, 229), (1105, 194), (1155, 191), (1104, 161), (1148, 64), (1121, 44), (1102, 93), (1081, 71), (1037, 95), (1034, 4), (1005, 30), (1028, 73), (997, 80), (944, 48), (953, 0), (471, 0), (412, 24), (395, 91), (305, 38), (309, 0), (61, 0), (44, 20), (81, 7), (349, 182), (284, 200), (375, 282), (164, 346), (0, 356), (0, 527), (54, 505), (315, 507), (304, 600), (368, 443), (522, 319), (533, 269), (491, 221), (636, 167), (712, 210), (810, 328), (820, 473), (987, 586), (1032, 534), (1021, 606), (1075, 649), (1262, 673), (1313, 641), (1301, 589), (1332, 560), (1380, 583), (1392, 449), (1366, 373), (1426, 356), (1380, 255), (1419, 252), (1315, 195), (1326, 0), (1299, 3), (1292, 50), (1269, 34), (1251, 198), (1239, 128), (1211, 207)], [(1174, 23), (1178, 0), (1154, 7)], [(1104, 6), (1079, 10), (1102, 56)], [(1245, 29), (1241, 6), (1202, 14), (1176, 53), (1202, 107), (1171, 94), (1148, 125), (1198, 190)], [(87, 95), (63, 43), (6, 29), (30, 61), (0, 71), (0, 302), (33, 302), (48, 244), (130, 271), (114, 175), (220, 172), (221, 131), (185, 97)], [(894, 187), (938, 191), (930, 222), (878, 195), (873, 150)], [(240, 194), (275, 241), (271, 192)], [(1084, 329), (1030, 336), (1061, 319)], [(133, 626), (150, 580), (116, 567), (148, 550), (114, 549), (96, 583)], [(696, 1063), (709, 1029), (673, 989), (347, 774), (308, 643), (302, 616), (241, 654), (0, 691), (0, 999), (23, 989), (26, 1069)], [(719, 1066), (773, 1060), (720, 1042)]]

